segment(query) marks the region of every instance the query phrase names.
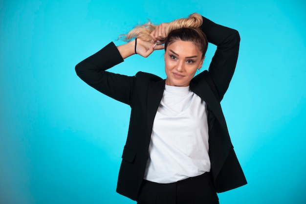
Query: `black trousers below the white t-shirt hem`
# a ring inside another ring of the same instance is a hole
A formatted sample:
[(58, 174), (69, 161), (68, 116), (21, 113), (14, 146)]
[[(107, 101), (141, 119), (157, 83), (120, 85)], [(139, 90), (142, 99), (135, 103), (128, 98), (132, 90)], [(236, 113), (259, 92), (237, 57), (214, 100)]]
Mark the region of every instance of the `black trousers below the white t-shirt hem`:
[(144, 180), (137, 204), (219, 204), (211, 174), (206, 172), (174, 183)]

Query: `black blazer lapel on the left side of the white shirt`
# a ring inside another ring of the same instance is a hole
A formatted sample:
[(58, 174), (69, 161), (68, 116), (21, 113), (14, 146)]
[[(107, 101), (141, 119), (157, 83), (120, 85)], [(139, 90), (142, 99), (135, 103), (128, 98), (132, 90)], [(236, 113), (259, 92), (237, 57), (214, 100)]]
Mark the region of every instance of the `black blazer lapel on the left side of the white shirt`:
[(157, 112), (158, 106), (160, 104), (161, 98), (163, 97), (164, 89), (165, 89), (165, 80), (161, 80), (158, 82), (150, 82), (149, 84), (148, 101), (147, 101), (148, 131), (150, 131), (149, 136), (151, 136), (152, 133), (154, 117)]

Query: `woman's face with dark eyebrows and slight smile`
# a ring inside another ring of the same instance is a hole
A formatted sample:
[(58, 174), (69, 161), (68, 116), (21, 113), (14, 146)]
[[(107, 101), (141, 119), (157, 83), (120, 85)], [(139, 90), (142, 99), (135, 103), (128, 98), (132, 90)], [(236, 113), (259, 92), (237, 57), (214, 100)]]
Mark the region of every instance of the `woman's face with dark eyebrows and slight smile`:
[(203, 65), (202, 53), (189, 41), (176, 40), (165, 51), (166, 85), (187, 87)]

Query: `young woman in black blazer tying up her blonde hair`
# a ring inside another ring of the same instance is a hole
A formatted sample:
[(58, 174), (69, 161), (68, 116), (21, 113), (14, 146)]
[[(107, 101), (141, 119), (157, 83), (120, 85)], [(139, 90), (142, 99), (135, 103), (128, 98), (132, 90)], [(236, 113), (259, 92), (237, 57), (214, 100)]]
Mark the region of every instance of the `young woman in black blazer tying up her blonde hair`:
[[(76, 66), (88, 85), (131, 106), (117, 192), (138, 204), (218, 204), (217, 192), (246, 184), (220, 107), (237, 63), (238, 31), (192, 14), (138, 26), (126, 40)], [(216, 53), (208, 71), (194, 77), (208, 42)], [(166, 79), (106, 71), (163, 48)]]

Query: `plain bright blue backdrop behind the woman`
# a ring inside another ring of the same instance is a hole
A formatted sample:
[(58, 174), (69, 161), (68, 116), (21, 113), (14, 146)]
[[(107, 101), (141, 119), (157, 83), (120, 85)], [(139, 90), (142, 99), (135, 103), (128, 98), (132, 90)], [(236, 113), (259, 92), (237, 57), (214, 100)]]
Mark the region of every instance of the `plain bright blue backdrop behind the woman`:
[[(305, 204), (305, 11), (303, 0), (0, 0), (0, 204), (135, 204), (115, 192), (130, 107), (74, 67), (137, 23), (193, 12), (241, 36), (222, 107), (249, 183), (220, 203)], [(165, 77), (163, 51), (111, 70)]]

